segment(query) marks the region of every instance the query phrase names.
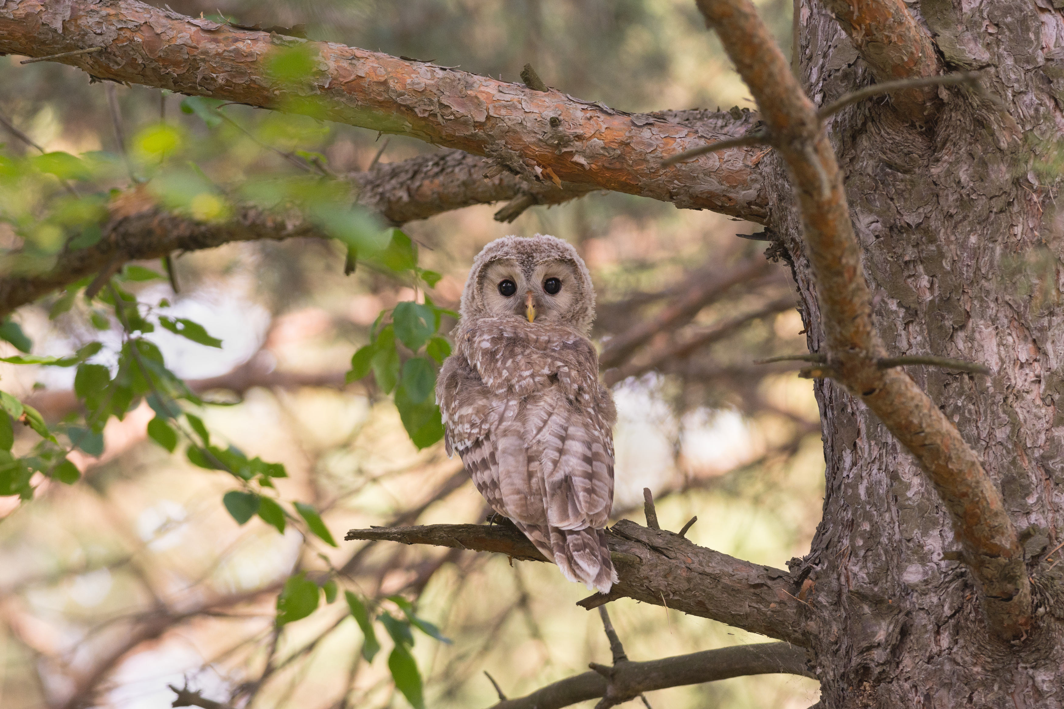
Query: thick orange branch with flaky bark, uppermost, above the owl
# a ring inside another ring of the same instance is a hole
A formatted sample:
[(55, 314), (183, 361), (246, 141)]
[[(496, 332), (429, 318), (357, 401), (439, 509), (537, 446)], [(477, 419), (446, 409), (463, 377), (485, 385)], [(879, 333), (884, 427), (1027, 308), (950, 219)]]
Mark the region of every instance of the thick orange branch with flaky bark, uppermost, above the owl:
[[(298, 85), (278, 81), (270, 60), (290, 46), (316, 57)], [(536, 91), (426, 62), (332, 43), (193, 19), (136, 0), (71, 0), (0, 6), (0, 52), (60, 60), (118, 82), (306, 113), (491, 157), (532, 182), (642, 195), (679, 207), (764, 221), (767, 199), (748, 148), (672, 168), (665, 155), (733, 135), (661, 115), (626, 114), (561, 91)], [(556, 183), (555, 183), (556, 184)]]

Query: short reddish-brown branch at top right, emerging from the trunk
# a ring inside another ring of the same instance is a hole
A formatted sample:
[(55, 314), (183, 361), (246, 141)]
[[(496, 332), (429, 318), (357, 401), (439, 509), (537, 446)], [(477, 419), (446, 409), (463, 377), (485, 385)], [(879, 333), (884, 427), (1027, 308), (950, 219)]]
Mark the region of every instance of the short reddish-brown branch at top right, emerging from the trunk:
[[(825, 0), (879, 83), (942, 73), (928, 33), (903, 0)], [(937, 86), (913, 86), (891, 95), (897, 113), (925, 122), (942, 107)]]

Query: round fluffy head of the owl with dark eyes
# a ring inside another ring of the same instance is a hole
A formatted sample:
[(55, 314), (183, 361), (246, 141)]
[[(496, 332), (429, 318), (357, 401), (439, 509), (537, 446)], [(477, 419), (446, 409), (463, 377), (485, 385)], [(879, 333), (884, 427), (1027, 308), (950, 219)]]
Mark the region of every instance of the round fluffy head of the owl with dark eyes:
[(553, 236), (504, 236), (477, 255), (462, 291), (462, 318), (527, 318), (583, 334), (595, 320), (595, 287), (577, 250)]

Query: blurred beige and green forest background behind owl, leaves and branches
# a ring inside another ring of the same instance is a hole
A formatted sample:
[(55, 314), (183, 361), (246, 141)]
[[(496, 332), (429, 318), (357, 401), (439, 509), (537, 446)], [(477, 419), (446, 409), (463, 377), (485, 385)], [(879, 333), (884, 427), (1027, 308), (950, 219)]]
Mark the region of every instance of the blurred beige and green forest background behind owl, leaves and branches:
[[(791, 0), (758, 4), (787, 51)], [(754, 107), (689, 0), (170, 5), (195, 16), (220, 12), (242, 24), (303, 23), (313, 39), (510, 81), (519, 81), (531, 63), (547, 84), (624, 111)], [(375, 159), (395, 163), (434, 150), (240, 105), (225, 108), (231, 120), (209, 124), (181, 109), (183, 97), (143, 87), (110, 89), (116, 114), (109, 89), (89, 85), (83, 72), (47, 62), (21, 66), (20, 58), (0, 57), (0, 113), (47, 151), (114, 166), (100, 189), (129, 185), (127, 165), (145, 179), (145, 155), (155, 154), (152, 140), (160, 135), (173, 136), (167, 165), (194, 166), (223, 192), (264, 175), (299, 173), (294, 154), (319, 153), (329, 171), (343, 175)], [(14, 135), (3, 140), (6, 155), (35, 154)], [(181, 180), (152, 174), (163, 193), (188, 198)], [(6, 220), (37, 199), (29, 187), (0, 189)], [(203, 219), (226, 208), (218, 200), (185, 201)], [(663, 326), (606, 372), (619, 409), (614, 518), (642, 522), (646, 486), (664, 528), (679, 529), (698, 516), (688, 533), (696, 543), (775, 567), (805, 553), (824, 487), (818, 412), (810, 382), (752, 364), (805, 349), (786, 264), (766, 261), (766, 242), (735, 236), (760, 227), (616, 193), (532, 207), (512, 224), (495, 221), (496, 208), (469, 207), (404, 226), (420, 244), (420, 266), (443, 274), (429, 291), (436, 304), (456, 309), (472, 257), (506, 234), (553, 234), (579, 249), (598, 289), (595, 336), (602, 340), (654, 319), (706, 283), (743, 274), (727, 288), (708, 289), (689, 316)], [(3, 253), (22, 246), (10, 224), (0, 223)], [(0, 258), (0, 269), (11, 267)], [(392, 400), (372, 384), (345, 384), (351, 355), (367, 342), (381, 309), (417, 296), (410, 284), (361, 264), (345, 275), (344, 261), (335, 241), (232, 243), (177, 257), (180, 292), (165, 277), (135, 281), (130, 272), (123, 287), (143, 303), (167, 299), (169, 313), (222, 340), (217, 350), (168, 332), (147, 336), (212, 402), (198, 413), (213, 438), (249, 457), (282, 462), (288, 477), (276, 480), (280, 497), (322, 510), (334, 538), (370, 525), (483, 521), (484, 503), (456, 458), (449, 460), (442, 444), (418, 451)], [(157, 261), (142, 266), (164, 273)], [(92, 339), (120, 341), (117, 322), (97, 318), (94, 325), (93, 306), (80, 299), (55, 314), (57, 300), (14, 316), (35, 354), (68, 354)], [(443, 331), (452, 324), (445, 319)], [(676, 347), (692, 338), (700, 345)], [(15, 353), (0, 342), (0, 355)], [(73, 376), (69, 368), (0, 364), (3, 389), (49, 421), (76, 409)], [(294, 525), (281, 535), (259, 519), (237, 525), (221, 504), (232, 478), (152, 442), (146, 434), (151, 418), (143, 404), (107, 423), (100, 450), (72, 453), (82, 473), (74, 485), (45, 480), (32, 501), (0, 497), (5, 709), (160, 709), (173, 698), (168, 685), (186, 683), (238, 707), (408, 706), (385, 663), (387, 634), (378, 626), (383, 649), (367, 661), (365, 636), (343, 594), (278, 631), (277, 596), (296, 571), (310, 578), (334, 574), (371, 612), (401, 617), (401, 604), (387, 597), (416, 600), (417, 615), (451, 641), (417, 634), (412, 649), (426, 704), (434, 709), (492, 705), (496, 694), (484, 671), (518, 696), (583, 672), (588, 661), (608, 660), (598, 614), (575, 605), (588, 592), (547, 564), (392, 543), (333, 547)], [(636, 660), (763, 640), (627, 598), (610, 609)], [(771, 675), (647, 698), (655, 709), (798, 709), (816, 697), (814, 680)]]

